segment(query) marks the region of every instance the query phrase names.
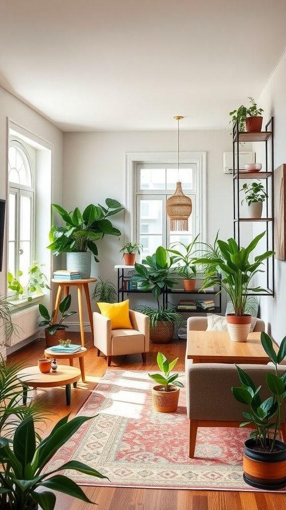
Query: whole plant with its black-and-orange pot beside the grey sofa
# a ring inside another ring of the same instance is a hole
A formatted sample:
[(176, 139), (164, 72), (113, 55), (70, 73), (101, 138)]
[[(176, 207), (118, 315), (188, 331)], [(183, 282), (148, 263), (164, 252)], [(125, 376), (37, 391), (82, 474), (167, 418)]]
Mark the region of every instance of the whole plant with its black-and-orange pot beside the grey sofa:
[(286, 337), (277, 354), (271, 338), (264, 331), (261, 343), (275, 368), (275, 373), (269, 371), (266, 374), (266, 386), (271, 396), (262, 401), (261, 386), (256, 388), (251, 377), (238, 365), (241, 387), (232, 387), (232, 392), (236, 400), (249, 407), (249, 411), (242, 413), (246, 421), (241, 426), (254, 426), (244, 446), (244, 481), (252, 487), (272, 490), (286, 486), (286, 444), (277, 439), (286, 395), (286, 372), (278, 374), (278, 365), (286, 355)]

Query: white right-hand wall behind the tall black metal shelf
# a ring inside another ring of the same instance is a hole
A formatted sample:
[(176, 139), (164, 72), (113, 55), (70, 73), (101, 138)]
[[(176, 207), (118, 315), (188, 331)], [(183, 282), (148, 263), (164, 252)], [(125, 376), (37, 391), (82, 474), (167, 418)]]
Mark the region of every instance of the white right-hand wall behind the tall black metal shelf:
[[(286, 163), (286, 54), (270, 77), (265, 90), (259, 98), (258, 105), (264, 109), (264, 120), (274, 116), (274, 169)], [(260, 144), (254, 144), (256, 161), (259, 151), (264, 151)], [(262, 152), (263, 154), (263, 152)], [(275, 221), (275, 218), (274, 218)], [(286, 261), (275, 260), (275, 296), (264, 297), (261, 301), (261, 314), (268, 328), (268, 333), (280, 344), (286, 335), (285, 327), (285, 292)]]

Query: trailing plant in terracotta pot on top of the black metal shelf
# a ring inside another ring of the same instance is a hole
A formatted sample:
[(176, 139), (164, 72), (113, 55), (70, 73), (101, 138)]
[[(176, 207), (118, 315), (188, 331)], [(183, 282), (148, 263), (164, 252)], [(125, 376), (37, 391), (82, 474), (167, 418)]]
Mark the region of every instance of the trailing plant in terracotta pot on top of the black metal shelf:
[(262, 119), (261, 116), (263, 109), (258, 108), (253, 97), (248, 96), (250, 106), (241, 105), (237, 110), (233, 110), (230, 112), (232, 119), (230, 123), (233, 124), (238, 122), (238, 130), (239, 131), (247, 131), (247, 132), (259, 132), (262, 128)]

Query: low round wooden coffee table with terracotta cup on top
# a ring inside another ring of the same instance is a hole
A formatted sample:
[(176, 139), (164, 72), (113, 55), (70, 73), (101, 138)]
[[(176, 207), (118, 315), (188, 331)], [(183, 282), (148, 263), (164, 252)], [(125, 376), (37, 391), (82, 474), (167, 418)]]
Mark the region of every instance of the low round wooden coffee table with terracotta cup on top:
[[(66, 386), (67, 405), (71, 403), (71, 384), (76, 388), (76, 383), (80, 378), (80, 370), (68, 365), (59, 365), (56, 372), (42, 373), (37, 366), (27, 367), (17, 373), (20, 382), (32, 388), (55, 388), (56, 386)], [(23, 386), (23, 404), (27, 402), (27, 388)]]

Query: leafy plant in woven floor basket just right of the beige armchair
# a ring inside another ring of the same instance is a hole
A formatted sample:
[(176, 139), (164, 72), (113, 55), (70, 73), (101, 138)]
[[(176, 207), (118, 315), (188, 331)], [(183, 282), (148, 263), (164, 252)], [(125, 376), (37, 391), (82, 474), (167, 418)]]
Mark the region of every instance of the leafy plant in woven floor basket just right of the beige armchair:
[(142, 260), (142, 264), (134, 265), (132, 282), (140, 286), (141, 290), (152, 290), (157, 299), (157, 309), (152, 307), (138, 307), (150, 318), (150, 341), (154, 343), (169, 342), (174, 335), (174, 323), (181, 321), (181, 316), (174, 309), (167, 309), (159, 302), (159, 296), (168, 287), (174, 287), (175, 270), (172, 269), (173, 258), (169, 256), (163, 246), (159, 246), (152, 256)]

